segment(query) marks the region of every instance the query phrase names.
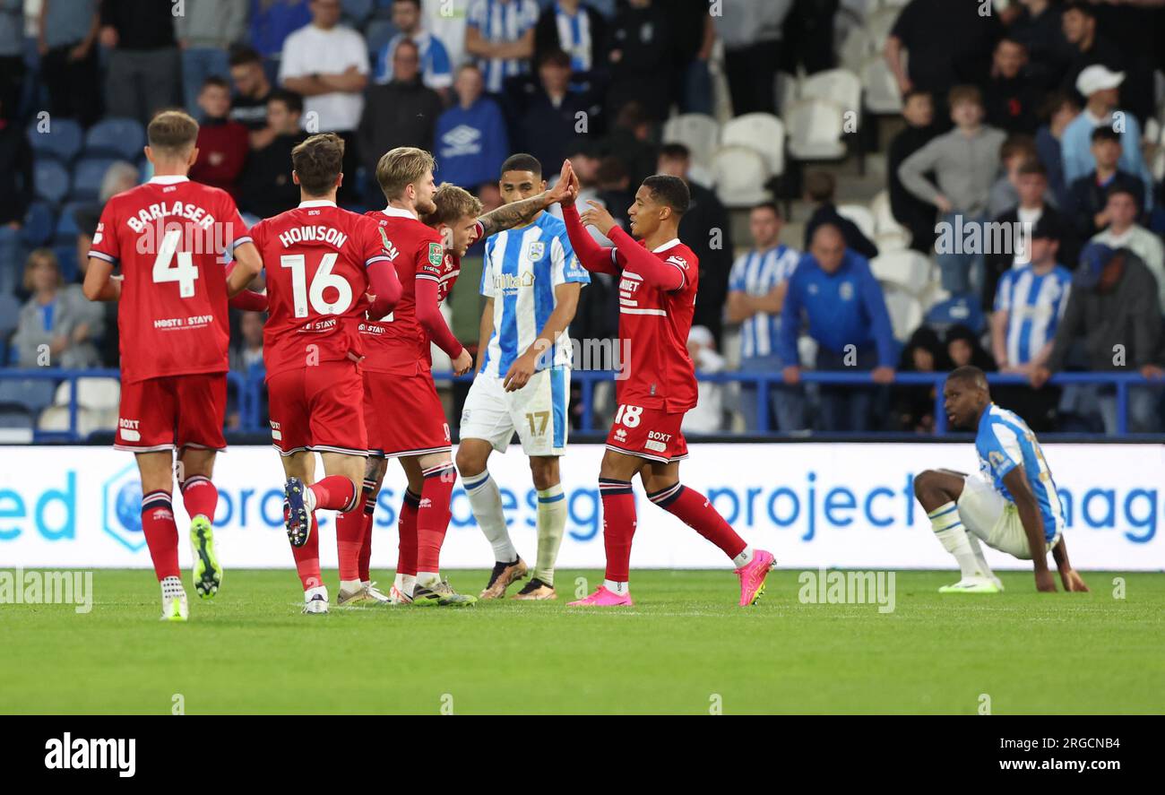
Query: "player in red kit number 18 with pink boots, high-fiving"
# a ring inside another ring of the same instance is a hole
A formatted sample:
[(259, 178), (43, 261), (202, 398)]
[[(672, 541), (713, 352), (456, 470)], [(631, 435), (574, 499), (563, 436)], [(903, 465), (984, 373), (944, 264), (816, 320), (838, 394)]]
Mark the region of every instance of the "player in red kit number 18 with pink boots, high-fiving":
[[(699, 263), (679, 240), (679, 219), (687, 211), (683, 180), (652, 176), (643, 181), (628, 210), (631, 234), (620, 228), (595, 202), (580, 218), (574, 206), (578, 177), (563, 200), (563, 218), (574, 253), (587, 270), (619, 276), (619, 336), (630, 345), (617, 381), (615, 422), (599, 471), (607, 574), (594, 593), (572, 601), (582, 606), (630, 605), (628, 574), (635, 534), (631, 478), (640, 476), (648, 499), (714, 543), (736, 567), (741, 605), (756, 601), (772, 568), (772, 555), (754, 550), (700, 493), (679, 481), (679, 462), (687, 458), (680, 431), (684, 413), (696, 406), (697, 384), (687, 354), (687, 333), (696, 307)], [(605, 248), (584, 228), (594, 226), (615, 244)], [(636, 242), (631, 235), (638, 238)]]

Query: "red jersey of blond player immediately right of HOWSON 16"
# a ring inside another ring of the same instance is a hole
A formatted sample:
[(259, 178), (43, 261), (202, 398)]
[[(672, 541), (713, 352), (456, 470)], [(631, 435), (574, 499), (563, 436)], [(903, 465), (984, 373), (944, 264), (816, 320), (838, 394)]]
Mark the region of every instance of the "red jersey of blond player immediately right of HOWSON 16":
[(388, 238), (388, 256), (401, 282), (401, 300), (384, 318), (360, 326), (365, 370), (416, 375), (431, 370), (429, 335), (417, 321), (417, 279), (437, 281), (444, 300), (460, 273), (457, 258), (446, 258), (437, 230), (425, 226), (407, 210), (386, 207), (365, 213), (374, 218)]

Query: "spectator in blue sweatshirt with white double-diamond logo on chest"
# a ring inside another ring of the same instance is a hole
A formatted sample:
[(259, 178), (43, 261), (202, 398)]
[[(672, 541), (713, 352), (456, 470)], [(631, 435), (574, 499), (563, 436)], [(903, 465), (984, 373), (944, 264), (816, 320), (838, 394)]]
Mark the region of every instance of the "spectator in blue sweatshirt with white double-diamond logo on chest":
[(481, 70), (466, 64), (457, 72), (457, 105), (437, 119), (437, 181), (475, 190), (493, 182), (509, 156), (506, 120), (497, 104), (482, 97)]

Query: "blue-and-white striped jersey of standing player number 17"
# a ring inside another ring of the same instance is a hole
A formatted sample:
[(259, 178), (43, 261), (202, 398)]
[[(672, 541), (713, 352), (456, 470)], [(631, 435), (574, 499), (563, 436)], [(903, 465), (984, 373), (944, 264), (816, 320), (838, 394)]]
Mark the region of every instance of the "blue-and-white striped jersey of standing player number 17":
[[(504, 378), (514, 360), (538, 338), (555, 311), (555, 288), (567, 282), (591, 283), (570, 238), (566, 224), (543, 212), (529, 226), (497, 232), (486, 240), (481, 295), (494, 300), (494, 332), (481, 372)], [(564, 331), (553, 356), (539, 356), (538, 370), (550, 363), (571, 366), (571, 343)]]

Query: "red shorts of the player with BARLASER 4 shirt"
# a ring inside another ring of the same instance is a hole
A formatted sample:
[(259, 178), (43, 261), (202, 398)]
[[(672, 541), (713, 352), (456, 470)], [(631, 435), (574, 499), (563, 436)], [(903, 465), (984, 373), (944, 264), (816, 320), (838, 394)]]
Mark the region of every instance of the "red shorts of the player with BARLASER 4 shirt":
[(167, 375), (121, 385), (113, 446), (130, 452), (226, 449), (226, 373)]

